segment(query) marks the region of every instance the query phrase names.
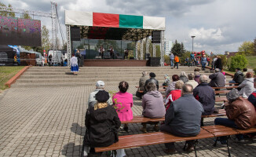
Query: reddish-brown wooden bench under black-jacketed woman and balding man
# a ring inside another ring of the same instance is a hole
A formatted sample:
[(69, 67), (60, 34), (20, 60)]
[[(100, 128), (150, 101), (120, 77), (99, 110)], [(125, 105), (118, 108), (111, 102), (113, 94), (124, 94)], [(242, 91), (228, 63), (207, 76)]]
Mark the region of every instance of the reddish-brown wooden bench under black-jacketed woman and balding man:
[[(119, 137), (119, 141), (104, 148), (95, 148), (95, 152), (106, 152), (117, 149), (135, 148), (153, 144), (165, 144), (177, 141), (199, 140), (204, 138), (214, 137), (212, 133), (206, 130), (201, 130), (196, 137), (176, 137), (170, 133), (155, 132), (155, 133), (141, 133)], [(196, 153), (196, 144), (194, 145)]]

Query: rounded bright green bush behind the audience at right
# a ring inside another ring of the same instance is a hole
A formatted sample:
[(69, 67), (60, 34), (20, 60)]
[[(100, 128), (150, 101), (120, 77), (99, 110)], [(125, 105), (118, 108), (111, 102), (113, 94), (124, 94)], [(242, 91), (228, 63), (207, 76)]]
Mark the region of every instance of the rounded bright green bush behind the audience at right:
[(236, 54), (236, 56), (230, 57), (229, 59), (229, 71), (236, 71), (236, 68), (247, 68), (247, 63), (245, 55)]

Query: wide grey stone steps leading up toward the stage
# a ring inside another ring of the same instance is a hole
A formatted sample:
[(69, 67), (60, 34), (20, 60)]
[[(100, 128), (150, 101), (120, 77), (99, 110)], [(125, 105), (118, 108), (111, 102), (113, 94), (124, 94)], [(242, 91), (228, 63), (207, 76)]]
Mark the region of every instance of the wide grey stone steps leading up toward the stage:
[[(42, 87), (42, 86), (95, 86), (95, 82), (102, 80), (106, 86), (118, 86), (120, 81), (129, 82), (130, 87), (138, 86), (142, 71), (155, 72), (156, 79), (159, 80), (159, 85), (164, 82), (165, 74), (180, 75), (181, 71), (193, 73), (195, 68), (180, 67), (179, 69), (171, 69), (170, 67), (81, 67), (79, 75), (71, 75), (68, 67), (31, 67), (20, 79), (16, 80), (13, 88), (26, 87)], [(210, 75), (210, 73), (200, 71), (201, 74)], [(226, 82), (232, 80), (231, 77), (226, 77)]]

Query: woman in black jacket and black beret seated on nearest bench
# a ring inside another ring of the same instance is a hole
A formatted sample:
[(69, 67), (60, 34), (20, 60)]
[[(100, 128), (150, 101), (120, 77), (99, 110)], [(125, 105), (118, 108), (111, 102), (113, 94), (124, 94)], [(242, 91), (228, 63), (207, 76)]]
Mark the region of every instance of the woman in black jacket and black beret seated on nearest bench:
[[(97, 104), (94, 108), (86, 111), (86, 135), (84, 137), (84, 154), (87, 156), (89, 152), (94, 152), (93, 148), (107, 147), (118, 139), (118, 129), (121, 126), (119, 117), (113, 106), (109, 106), (107, 100), (109, 99), (108, 92), (100, 90), (95, 99)], [(91, 148), (91, 150), (90, 150)], [(118, 150), (119, 156), (124, 156), (124, 150)]]

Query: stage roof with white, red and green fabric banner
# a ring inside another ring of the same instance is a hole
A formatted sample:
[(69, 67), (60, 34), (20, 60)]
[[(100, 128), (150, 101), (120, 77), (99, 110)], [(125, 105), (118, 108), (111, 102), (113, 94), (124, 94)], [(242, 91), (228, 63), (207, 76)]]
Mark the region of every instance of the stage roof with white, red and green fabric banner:
[(140, 40), (165, 30), (165, 17), (65, 10), (65, 24), (79, 27), (80, 38)]

